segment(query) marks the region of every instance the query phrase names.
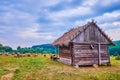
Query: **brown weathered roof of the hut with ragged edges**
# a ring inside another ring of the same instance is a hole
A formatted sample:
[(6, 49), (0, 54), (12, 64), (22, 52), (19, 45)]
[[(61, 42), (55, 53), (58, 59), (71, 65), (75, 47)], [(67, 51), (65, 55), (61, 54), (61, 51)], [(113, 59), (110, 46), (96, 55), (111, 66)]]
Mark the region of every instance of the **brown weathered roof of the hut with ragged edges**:
[[(80, 33), (82, 33), (87, 27), (89, 27), (91, 24), (94, 24), (99, 31), (103, 34), (103, 36), (106, 37), (106, 39), (110, 42), (110, 44), (113, 44), (112, 40), (96, 25), (94, 22), (88, 22), (86, 25), (79, 26), (77, 28), (72, 28), (68, 32), (64, 33), (61, 37), (59, 37), (57, 40), (55, 40), (52, 45), (58, 45), (58, 46), (68, 46), (69, 43)], [(113, 44), (114, 45), (114, 44)]]

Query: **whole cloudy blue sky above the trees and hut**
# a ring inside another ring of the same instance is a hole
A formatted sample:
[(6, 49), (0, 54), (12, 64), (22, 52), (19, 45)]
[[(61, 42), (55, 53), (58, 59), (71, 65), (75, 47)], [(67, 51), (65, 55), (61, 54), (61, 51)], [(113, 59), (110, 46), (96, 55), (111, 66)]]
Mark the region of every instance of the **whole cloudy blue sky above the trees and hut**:
[(120, 0), (0, 0), (0, 43), (13, 48), (51, 43), (91, 19), (120, 40)]

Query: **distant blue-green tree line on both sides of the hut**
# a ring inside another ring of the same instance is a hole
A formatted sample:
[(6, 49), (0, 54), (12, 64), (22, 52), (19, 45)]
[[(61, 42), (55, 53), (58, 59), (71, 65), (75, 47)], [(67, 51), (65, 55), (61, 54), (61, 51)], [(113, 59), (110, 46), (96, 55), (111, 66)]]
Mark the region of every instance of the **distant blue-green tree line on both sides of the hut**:
[[(113, 56), (120, 55), (120, 41), (114, 41), (115, 46), (109, 46), (109, 53)], [(42, 44), (42, 45), (34, 45), (32, 47), (25, 47), (21, 48), (20, 46), (17, 47), (16, 50), (13, 50), (9, 46), (3, 46), (0, 44), (0, 52), (9, 52), (9, 53), (52, 53), (52, 54), (58, 54), (58, 46), (52, 46), (51, 44)]]

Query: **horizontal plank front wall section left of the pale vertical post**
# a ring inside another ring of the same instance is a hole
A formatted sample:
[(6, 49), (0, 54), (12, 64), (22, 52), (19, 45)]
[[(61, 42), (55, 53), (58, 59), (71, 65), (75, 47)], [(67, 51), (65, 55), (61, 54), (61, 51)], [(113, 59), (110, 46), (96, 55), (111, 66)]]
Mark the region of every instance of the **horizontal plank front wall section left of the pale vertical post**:
[(97, 46), (94, 49), (90, 49), (90, 45), (74, 45), (74, 65), (92, 65), (93, 63), (98, 64)]

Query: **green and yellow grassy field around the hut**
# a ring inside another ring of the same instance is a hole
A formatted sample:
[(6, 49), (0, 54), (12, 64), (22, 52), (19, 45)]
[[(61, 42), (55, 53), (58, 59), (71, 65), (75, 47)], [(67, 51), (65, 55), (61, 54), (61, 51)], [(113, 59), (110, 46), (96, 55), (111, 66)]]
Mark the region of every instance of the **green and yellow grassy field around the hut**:
[[(74, 68), (47, 55), (14, 58), (0, 55), (1, 80), (120, 80), (120, 60), (111, 57), (112, 66)], [(9, 79), (8, 79), (9, 78)]]

